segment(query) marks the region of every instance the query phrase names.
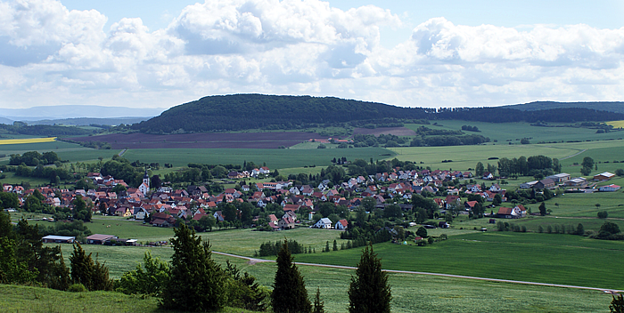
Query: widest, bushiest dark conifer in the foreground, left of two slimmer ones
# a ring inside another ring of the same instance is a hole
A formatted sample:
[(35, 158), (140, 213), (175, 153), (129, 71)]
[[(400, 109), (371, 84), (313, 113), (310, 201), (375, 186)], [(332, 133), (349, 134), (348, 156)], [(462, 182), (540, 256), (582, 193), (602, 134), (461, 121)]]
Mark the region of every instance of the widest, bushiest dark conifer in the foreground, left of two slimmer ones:
[(222, 309), (226, 303), (224, 273), (210, 259), (209, 242), (202, 243), (184, 223), (174, 234), (169, 280), (160, 304), (165, 309), (190, 312)]

